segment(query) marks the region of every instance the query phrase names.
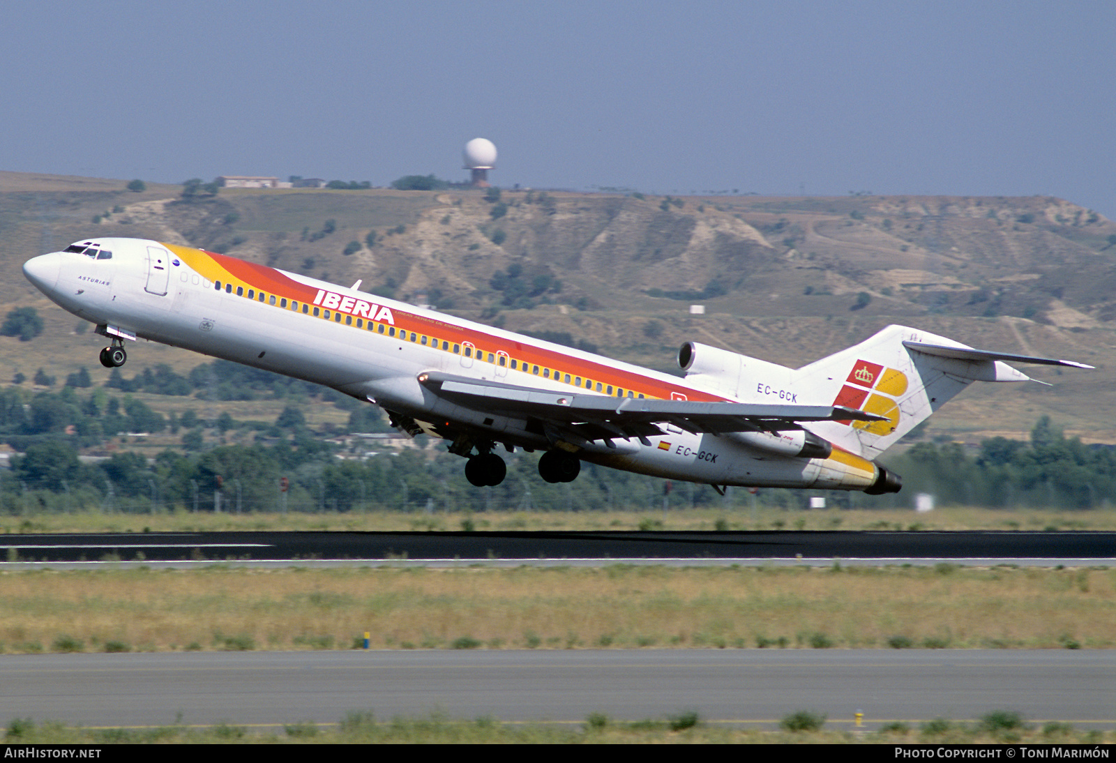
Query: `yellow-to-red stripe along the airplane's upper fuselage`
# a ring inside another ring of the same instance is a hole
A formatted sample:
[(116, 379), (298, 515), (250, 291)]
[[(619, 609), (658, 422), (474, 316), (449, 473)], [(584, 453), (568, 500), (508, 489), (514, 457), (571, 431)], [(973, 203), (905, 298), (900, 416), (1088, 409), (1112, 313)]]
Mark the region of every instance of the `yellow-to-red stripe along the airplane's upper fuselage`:
[[(183, 262), (186, 263), (186, 265), (211, 282), (221, 281), (222, 283), (243, 286), (246, 289), (251, 288), (267, 294), (275, 294), (277, 298), (286, 298), (288, 301), (297, 301), (311, 306), (318, 293), (317, 287), (307, 286), (296, 281), (275, 268), (257, 264), (254, 262), (246, 262), (244, 260), (238, 260), (233, 257), (218, 254), (217, 252), (209, 252), (201, 249), (166, 243), (163, 245), (171, 250), (174, 254), (179, 255)], [(330, 286), (334, 286), (334, 289), (330, 289), (330, 291), (337, 294), (345, 296), (345, 292), (348, 291), (344, 287), (336, 287), (335, 284)], [(364, 301), (375, 302), (379, 307), (384, 307), (383, 301), (375, 297), (375, 294), (368, 293), (364, 297)], [(556, 350), (537, 347), (525, 342), (520, 338), (513, 339), (498, 337), (484, 331), (466, 328), (456, 323), (450, 323), (436, 318), (420, 316), (406, 311), (398, 302), (394, 302), (388, 306), (388, 308), (393, 313), (393, 325), (396, 331), (407, 332), (405, 340), (410, 340), (410, 334), (414, 332), (436, 338), (439, 341), (449, 341), (451, 345), (464, 345), (465, 342), (469, 342), (477, 348), (477, 360), (479, 363), (488, 363), (487, 358), (490, 352), (493, 356), (499, 352), (503, 352), (510, 358), (519, 361), (520, 368), (517, 369), (519, 373), (530, 373), (530, 367), (539, 366), (538, 378), (540, 380), (543, 378), (541, 373), (543, 368), (549, 368), (551, 371), (560, 371), (562, 375), (568, 374), (571, 377), (569, 386), (574, 386), (574, 377), (581, 377), (583, 386), (577, 388), (585, 393), (605, 394), (596, 392), (596, 383), (599, 382), (602, 385), (610, 385), (614, 389), (624, 389), (625, 392), (631, 390), (637, 395), (644, 395), (651, 398), (670, 399), (671, 393), (682, 393), (685, 395), (686, 399), (691, 400), (716, 402), (729, 399), (727, 397), (710, 395), (709, 393), (699, 392), (690, 387), (683, 387), (677, 384), (671, 384), (661, 379), (643, 376), (637, 373), (620, 370), (604, 363), (577, 358)], [(276, 309), (283, 308), (276, 306)], [(334, 310), (334, 312), (336, 312), (336, 310)], [(321, 319), (324, 318), (319, 318), (319, 320)], [(373, 323), (374, 321), (369, 319), (368, 322)], [(367, 330), (357, 328), (355, 323), (349, 328), (353, 328), (354, 330)], [(402, 337), (396, 337), (396, 339), (401, 338)], [(419, 342), (415, 344), (417, 345)], [(427, 345), (427, 347), (430, 347), (430, 345)], [(446, 351), (442, 350), (441, 346), (439, 346), (437, 349), (439, 351)], [(452, 350), (450, 351), (452, 352)], [(483, 358), (480, 356), (481, 352), (484, 352)], [(584, 386), (584, 380), (587, 378), (593, 379), (595, 383), (594, 388), (590, 389)], [(547, 380), (565, 384), (565, 382), (557, 377), (551, 377)]]

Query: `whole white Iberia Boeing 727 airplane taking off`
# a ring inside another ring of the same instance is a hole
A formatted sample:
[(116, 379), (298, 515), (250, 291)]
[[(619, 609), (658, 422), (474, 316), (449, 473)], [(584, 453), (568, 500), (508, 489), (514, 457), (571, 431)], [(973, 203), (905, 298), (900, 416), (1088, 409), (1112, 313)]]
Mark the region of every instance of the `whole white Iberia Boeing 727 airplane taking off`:
[(106, 367), (143, 338), (333, 387), (448, 440), (478, 486), (503, 480), (502, 445), (543, 451), (547, 482), (588, 461), (719, 491), (893, 493), (876, 456), (970, 383), (1029, 378), (1009, 361), (1091, 368), (888, 326), (798, 369), (690, 341), (679, 378), (158, 241), (80, 241), (23, 273), (109, 338)]

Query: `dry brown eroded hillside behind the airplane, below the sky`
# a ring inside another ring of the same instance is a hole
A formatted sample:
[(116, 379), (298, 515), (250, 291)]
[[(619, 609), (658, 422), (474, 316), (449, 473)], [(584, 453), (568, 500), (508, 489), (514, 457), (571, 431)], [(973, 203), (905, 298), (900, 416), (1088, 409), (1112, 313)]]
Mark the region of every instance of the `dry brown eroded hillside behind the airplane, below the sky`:
[[(38, 366), (61, 377), (86, 366), (99, 378), (102, 340), (75, 334), (77, 319), (31, 289), (19, 265), (80, 238), (128, 235), (363, 279), (375, 293), (512, 330), (566, 332), (664, 369), (686, 339), (798, 366), (889, 322), (1070, 357), (1098, 370), (1035, 374), (1054, 388), (966, 392), (931, 433), (1020, 436), (1049, 413), (1068, 432), (1116, 442), (1107, 370), (1116, 365), (1116, 224), (1058, 199), (222, 190), (184, 203), (181, 186), (124, 185), (0, 173), (2, 297), (47, 320), (32, 342), (0, 338), (4, 383)], [(691, 316), (692, 303), (706, 313)], [(136, 370), (200, 361), (154, 347), (133, 354)]]

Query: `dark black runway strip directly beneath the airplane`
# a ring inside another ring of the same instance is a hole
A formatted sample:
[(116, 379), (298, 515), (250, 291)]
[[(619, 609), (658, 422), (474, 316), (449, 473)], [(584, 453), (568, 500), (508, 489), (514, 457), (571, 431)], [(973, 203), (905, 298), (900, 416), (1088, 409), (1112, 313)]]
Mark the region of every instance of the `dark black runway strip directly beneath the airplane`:
[[(1113, 532), (200, 532), (0, 535), (9, 562), (904, 560), (1116, 562)], [(977, 562), (973, 562), (977, 563)], [(3, 563), (7, 566), (7, 563)]]

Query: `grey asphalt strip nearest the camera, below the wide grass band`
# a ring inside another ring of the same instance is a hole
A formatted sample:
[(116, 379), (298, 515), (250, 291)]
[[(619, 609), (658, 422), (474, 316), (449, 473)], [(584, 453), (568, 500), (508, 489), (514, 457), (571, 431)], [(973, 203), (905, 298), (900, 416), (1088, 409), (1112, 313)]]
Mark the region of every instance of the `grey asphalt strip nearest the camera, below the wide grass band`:
[(1089, 650), (431, 650), (0, 656), (0, 721), (83, 726), (337, 723), (352, 711), (504, 722), (626, 721), (696, 711), (827, 727), (1016, 711), (1116, 727), (1116, 660)]

